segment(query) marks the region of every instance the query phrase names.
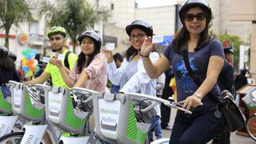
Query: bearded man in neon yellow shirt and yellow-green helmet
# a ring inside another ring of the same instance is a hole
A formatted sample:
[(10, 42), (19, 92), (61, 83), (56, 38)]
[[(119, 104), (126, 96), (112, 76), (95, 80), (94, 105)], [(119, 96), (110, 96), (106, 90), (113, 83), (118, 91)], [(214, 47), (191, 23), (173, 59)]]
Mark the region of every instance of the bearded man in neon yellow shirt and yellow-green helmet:
[[(55, 65), (55, 61), (58, 60), (58, 54), (67, 55), (68, 66), (66, 71), (69, 72), (74, 66), (74, 62), (77, 60), (77, 55), (70, 53), (65, 47), (66, 44), (66, 30), (61, 26), (54, 26), (47, 32), (48, 38), (50, 38), (50, 46), (53, 52), (56, 54), (53, 58), (50, 59), (50, 62), (47, 64), (46, 69), (38, 78), (34, 78), (31, 81), (24, 82), (25, 84), (36, 84), (46, 82), (48, 78), (52, 78), (53, 86), (66, 86), (66, 83), (62, 79), (62, 74), (58, 70), (58, 67)], [(62, 65), (65, 65), (65, 60), (62, 60)]]

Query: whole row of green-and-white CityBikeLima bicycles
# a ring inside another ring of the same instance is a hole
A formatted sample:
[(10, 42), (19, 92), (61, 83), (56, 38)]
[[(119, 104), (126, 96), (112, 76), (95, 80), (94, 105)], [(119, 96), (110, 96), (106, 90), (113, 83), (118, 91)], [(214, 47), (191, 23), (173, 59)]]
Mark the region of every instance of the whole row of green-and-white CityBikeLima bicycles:
[[(191, 114), (175, 102), (146, 94), (104, 94), (14, 81), (7, 86), (10, 92), (0, 91), (0, 143), (149, 143), (154, 106), (161, 103)], [(169, 138), (151, 143), (169, 143)]]

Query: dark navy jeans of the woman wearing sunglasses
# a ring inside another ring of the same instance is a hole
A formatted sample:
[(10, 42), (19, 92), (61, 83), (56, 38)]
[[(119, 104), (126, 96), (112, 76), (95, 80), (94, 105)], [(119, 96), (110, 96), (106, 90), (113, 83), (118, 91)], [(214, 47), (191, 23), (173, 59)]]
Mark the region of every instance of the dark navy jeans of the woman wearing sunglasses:
[[(170, 144), (206, 144), (225, 129), (223, 116), (217, 118), (216, 110), (185, 114), (178, 111), (170, 136)], [(220, 112), (220, 111), (218, 111)]]

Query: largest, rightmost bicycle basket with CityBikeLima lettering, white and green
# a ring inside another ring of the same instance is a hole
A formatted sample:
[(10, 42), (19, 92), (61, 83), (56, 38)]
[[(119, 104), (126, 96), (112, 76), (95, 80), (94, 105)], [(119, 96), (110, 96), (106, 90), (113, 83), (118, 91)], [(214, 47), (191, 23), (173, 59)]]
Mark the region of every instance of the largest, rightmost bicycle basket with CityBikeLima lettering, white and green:
[(110, 143), (143, 143), (150, 124), (137, 122), (134, 103), (127, 95), (94, 94), (95, 130)]

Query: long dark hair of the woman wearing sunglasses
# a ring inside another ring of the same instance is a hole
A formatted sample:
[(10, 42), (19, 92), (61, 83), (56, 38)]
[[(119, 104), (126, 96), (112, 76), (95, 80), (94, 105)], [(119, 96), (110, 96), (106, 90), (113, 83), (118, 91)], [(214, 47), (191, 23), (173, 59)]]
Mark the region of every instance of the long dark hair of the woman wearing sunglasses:
[[(193, 7), (196, 7), (196, 6), (193, 6)], [(180, 52), (181, 46), (186, 44), (186, 42), (190, 39), (190, 32), (186, 29), (185, 22), (184, 22), (185, 21), (184, 15), (189, 9), (185, 10), (184, 14), (182, 14), (182, 21), (183, 21), (182, 29), (178, 31), (178, 33), (176, 34), (172, 42), (172, 46), (174, 47), (175, 52), (177, 52), (178, 54), (181, 54)], [(202, 10), (206, 13), (205, 9), (202, 8)], [(210, 18), (209, 14), (206, 13), (206, 27), (205, 27), (205, 30), (203, 30), (202, 33), (199, 35), (198, 44), (194, 50), (199, 50), (200, 48), (202, 48), (202, 46), (205, 46), (210, 40), (210, 35), (208, 31), (209, 22), (210, 22), (209, 18)]]

